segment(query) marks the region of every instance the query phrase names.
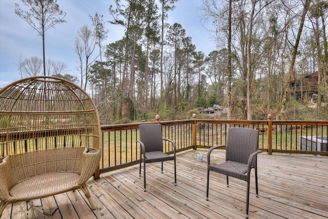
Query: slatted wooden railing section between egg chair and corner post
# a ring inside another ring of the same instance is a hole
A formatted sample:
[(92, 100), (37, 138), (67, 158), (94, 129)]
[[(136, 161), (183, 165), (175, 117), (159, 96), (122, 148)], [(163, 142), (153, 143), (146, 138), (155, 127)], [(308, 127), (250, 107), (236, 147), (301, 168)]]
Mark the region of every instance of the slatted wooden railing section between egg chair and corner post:
[[(157, 116), (158, 118), (158, 116)], [(162, 125), (164, 138), (173, 140), (176, 151), (193, 148), (194, 120), (169, 121), (156, 123)], [(122, 125), (101, 126), (103, 157), (100, 161), (100, 173), (137, 164), (140, 158), (139, 125), (147, 123), (133, 123)], [(172, 153), (172, 145), (164, 145), (165, 152)]]

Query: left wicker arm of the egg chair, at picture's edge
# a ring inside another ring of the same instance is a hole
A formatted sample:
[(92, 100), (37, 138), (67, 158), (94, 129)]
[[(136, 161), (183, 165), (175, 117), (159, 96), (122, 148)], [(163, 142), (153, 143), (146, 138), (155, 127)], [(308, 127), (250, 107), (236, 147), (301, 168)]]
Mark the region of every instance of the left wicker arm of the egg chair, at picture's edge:
[(0, 159), (0, 200), (7, 201), (10, 198), (10, 180), (13, 178), (9, 156)]

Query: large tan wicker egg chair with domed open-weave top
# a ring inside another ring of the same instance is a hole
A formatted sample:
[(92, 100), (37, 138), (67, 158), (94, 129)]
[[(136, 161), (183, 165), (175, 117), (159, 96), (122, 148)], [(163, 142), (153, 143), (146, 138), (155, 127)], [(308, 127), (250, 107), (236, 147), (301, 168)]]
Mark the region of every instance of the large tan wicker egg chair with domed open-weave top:
[(90, 96), (36, 76), (0, 90), (0, 217), (6, 205), (81, 189), (99, 168), (100, 123)]

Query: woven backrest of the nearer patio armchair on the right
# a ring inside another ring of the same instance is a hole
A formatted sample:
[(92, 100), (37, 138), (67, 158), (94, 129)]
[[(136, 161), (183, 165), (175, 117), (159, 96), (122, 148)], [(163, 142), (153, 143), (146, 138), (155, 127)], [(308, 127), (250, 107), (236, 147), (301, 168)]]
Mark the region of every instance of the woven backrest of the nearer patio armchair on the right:
[(258, 149), (258, 133), (251, 128), (229, 128), (226, 161), (247, 164), (250, 155)]

